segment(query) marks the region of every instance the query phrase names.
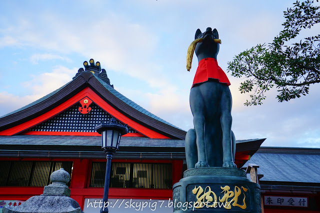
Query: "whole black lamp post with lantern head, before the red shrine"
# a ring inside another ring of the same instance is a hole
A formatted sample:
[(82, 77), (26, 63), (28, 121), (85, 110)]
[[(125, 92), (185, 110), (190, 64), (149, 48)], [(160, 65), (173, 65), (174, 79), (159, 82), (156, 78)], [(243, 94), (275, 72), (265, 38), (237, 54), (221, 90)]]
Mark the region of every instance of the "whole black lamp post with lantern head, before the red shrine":
[[(103, 206), (108, 201), (109, 181), (110, 181), (110, 169), (112, 155), (119, 149), (119, 143), (121, 135), (128, 133), (128, 128), (125, 125), (118, 123), (113, 117), (105, 123), (100, 123), (95, 126), (95, 130), (102, 136), (102, 145), (104, 152), (106, 153), (106, 168), (103, 190)], [(102, 207), (100, 213), (107, 213), (108, 209)]]

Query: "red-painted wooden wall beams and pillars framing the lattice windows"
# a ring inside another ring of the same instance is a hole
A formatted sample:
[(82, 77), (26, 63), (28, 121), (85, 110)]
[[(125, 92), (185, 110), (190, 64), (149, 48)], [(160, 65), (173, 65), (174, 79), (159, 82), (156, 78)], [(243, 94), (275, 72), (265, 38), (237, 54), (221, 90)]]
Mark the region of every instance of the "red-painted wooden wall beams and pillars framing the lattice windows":
[[(18, 158), (0, 158), (0, 160), (19, 160)], [(23, 158), (25, 161), (73, 161), (70, 181), (70, 197), (75, 199), (81, 208), (85, 198), (102, 198), (103, 187), (89, 187), (92, 162), (104, 162), (103, 159), (48, 159), (48, 158)], [(181, 178), (182, 160), (125, 160), (114, 159), (112, 162), (144, 162), (144, 163), (171, 163), (172, 185)], [(0, 186), (0, 200), (26, 200), (31, 196), (43, 193), (43, 187), (31, 186)], [(172, 199), (172, 189), (157, 188), (109, 188), (109, 198), (132, 199)]]

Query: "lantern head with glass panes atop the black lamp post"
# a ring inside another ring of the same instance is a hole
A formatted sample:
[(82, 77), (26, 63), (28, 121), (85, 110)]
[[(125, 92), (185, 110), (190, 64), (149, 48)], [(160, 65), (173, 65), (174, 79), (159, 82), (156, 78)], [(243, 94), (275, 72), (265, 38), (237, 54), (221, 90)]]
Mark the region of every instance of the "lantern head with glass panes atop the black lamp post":
[(127, 125), (119, 123), (114, 117), (105, 123), (97, 124), (95, 130), (102, 135), (101, 148), (112, 153), (119, 149), (121, 135), (128, 133)]

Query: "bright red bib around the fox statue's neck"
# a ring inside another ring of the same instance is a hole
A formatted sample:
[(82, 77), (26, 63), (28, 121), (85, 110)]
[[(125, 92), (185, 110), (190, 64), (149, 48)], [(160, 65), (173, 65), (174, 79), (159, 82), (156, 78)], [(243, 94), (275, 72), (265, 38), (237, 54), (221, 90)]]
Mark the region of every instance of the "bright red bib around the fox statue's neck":
[(209, 78), (217, 79), (220, 83), (230, 85), (228, 77), (220, 66), (218, 66), (216, 59), (212, 57), (206, 57), (199, 61), (191, 88), (194, 84), (205, 82)]

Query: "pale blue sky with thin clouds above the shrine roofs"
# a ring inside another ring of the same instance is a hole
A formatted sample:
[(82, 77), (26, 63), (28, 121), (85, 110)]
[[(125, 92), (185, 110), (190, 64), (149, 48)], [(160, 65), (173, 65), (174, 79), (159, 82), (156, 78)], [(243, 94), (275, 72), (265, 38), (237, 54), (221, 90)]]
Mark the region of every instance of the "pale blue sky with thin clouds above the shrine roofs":
[[(283, 10), (294, 0), (2, 0), (0, 116), (67, 83), (93, 58), (114, 88), (142, 107), (189, 129), (189, 89), (197, 66), (186, 71), (186, 50), (197, 28), (216, 28), (218, 63), (271, 42)], [(318, 3), (317, 3), (318, 4)], [(312, 33), (320, 31), (319, 26)], [(303, 31), (305, 35), (311, 33)], [(244, 106), (240, 79), (227, 73), (236, 139), (264, 138), (264, 146), (320, 147), (320, 85), (309, 95), (278, 103), (276, 91), (261, 106)]]

